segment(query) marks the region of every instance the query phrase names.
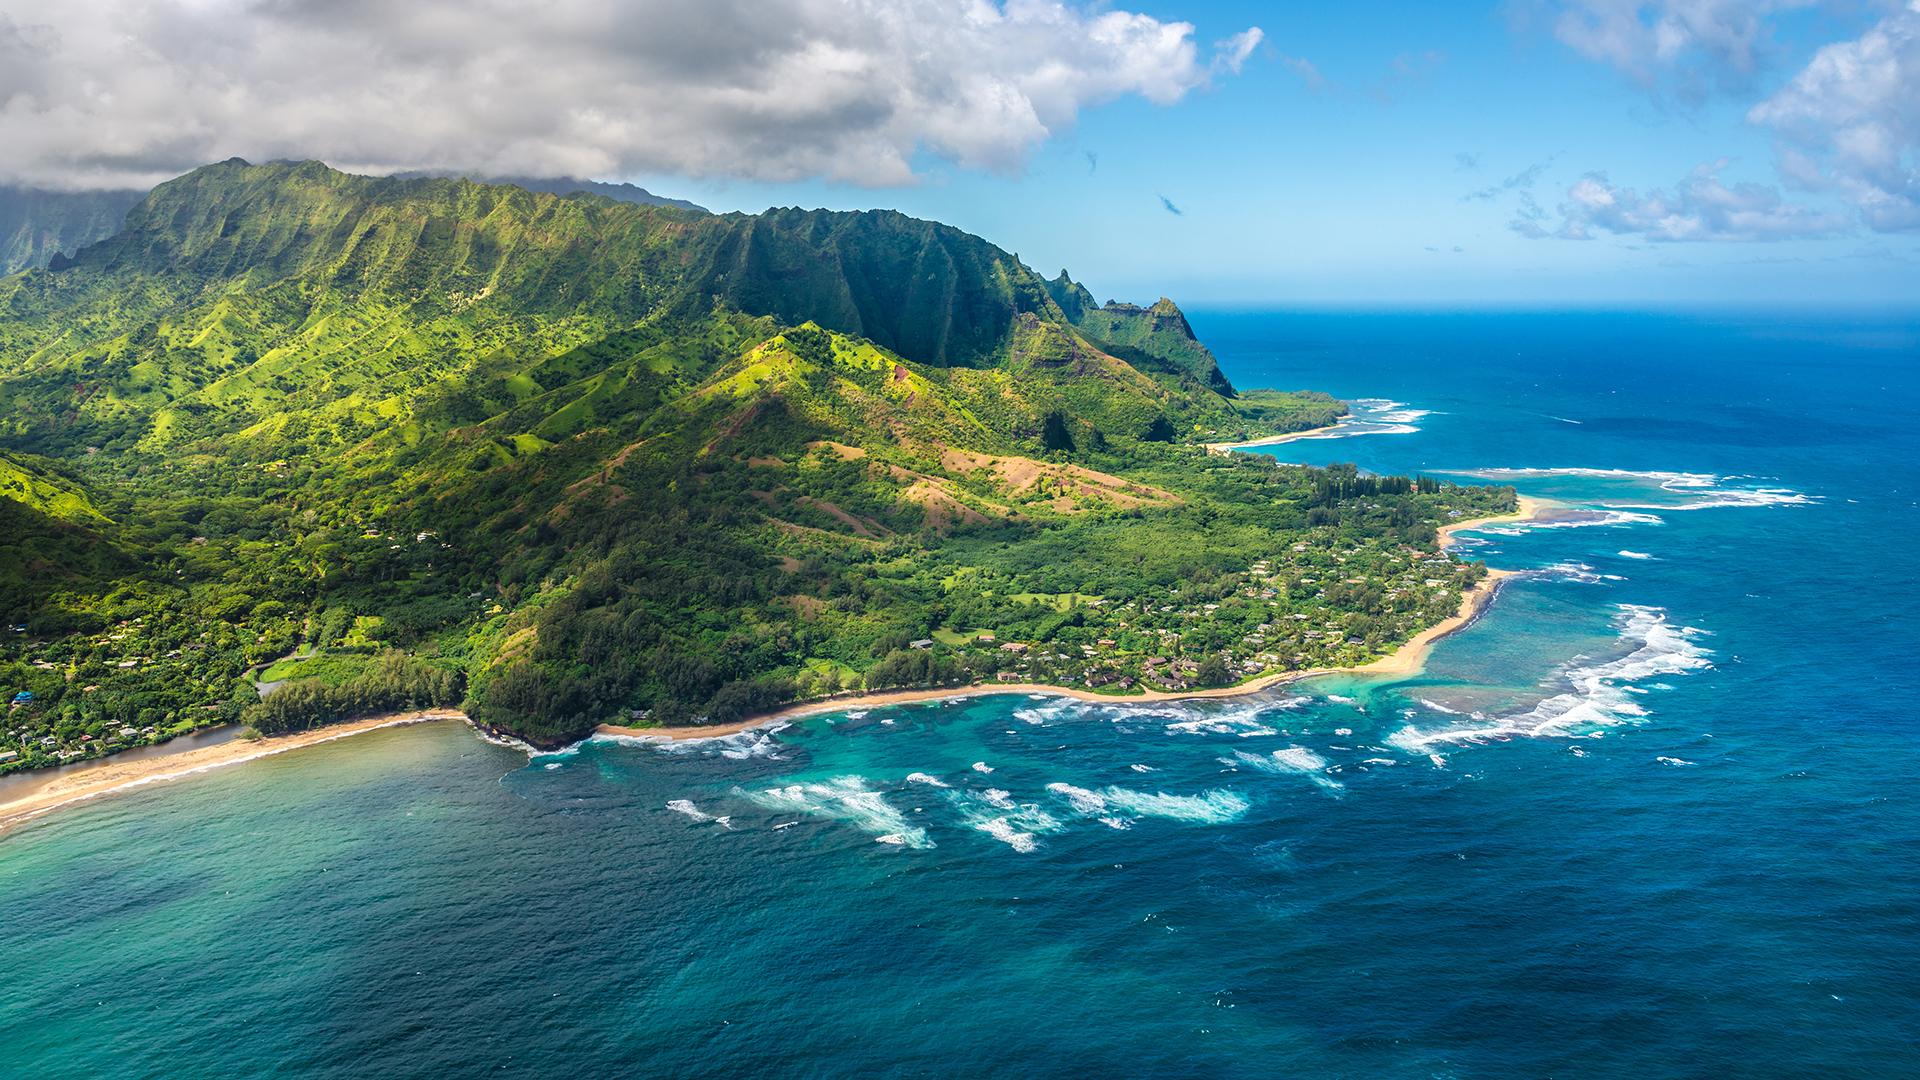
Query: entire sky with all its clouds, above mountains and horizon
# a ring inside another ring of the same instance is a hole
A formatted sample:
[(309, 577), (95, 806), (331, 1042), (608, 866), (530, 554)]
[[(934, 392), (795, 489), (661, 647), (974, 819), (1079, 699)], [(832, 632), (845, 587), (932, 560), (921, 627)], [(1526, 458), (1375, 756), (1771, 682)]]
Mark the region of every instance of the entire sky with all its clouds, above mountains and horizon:
[(0, 0), (0, 183), (899, 208), (1098, 296), (1920, 298), (1920, 0)]

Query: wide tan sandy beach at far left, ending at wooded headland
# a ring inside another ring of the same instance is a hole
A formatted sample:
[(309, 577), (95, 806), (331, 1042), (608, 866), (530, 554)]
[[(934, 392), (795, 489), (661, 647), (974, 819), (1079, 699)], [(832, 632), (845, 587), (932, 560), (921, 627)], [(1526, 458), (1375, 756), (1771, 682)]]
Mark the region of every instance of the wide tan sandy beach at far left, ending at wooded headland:
[(198, 773), (225, 769), (244, 761), (257, 761), (261, 757), (273, 757), (275, 753), (319, 746), (338, 738), (351, 738), (371, 730), (465, 719), (467, 715), (459, 709), (386, 713), (380, 717), (365, 717), (359, 721), (326, 724), (323, 728), (309, 728), (294, 734), (221, 742), (163, 757), (144, 757), (136, 761), (113, 761), (111, 757), (106, 757), (96, 769), (50, 776), (40, 788), (0, 801), (0, 836), (60, 807), (83, 803), (100, 796), (111, 796), (113, 792), (180, 780)]

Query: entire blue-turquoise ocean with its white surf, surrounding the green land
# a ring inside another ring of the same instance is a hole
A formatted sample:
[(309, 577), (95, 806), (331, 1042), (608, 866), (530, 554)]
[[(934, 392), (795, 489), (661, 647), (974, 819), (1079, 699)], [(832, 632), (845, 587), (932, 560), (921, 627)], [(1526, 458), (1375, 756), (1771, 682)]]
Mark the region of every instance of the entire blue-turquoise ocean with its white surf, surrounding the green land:
[(6, 1076), (1916, 1076), (1920, 321), (1200, 311), (1565, 511), (1428, 673), (401, 728), (0, 838)]

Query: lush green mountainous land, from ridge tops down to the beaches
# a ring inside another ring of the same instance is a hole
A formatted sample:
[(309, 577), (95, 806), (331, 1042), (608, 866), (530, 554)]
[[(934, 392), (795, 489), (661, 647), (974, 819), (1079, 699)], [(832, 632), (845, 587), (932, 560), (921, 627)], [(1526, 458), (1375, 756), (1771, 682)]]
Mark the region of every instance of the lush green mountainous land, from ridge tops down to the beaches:
[(1482, 573), (1434, 528), (1509, 490), (1210, 455), (1342, 405), (1242, 405), (1171, 302), (1056, 292), (897, 213), (163, 184), (0, 279), (0, 769), (453, 701), (559, 742), (1236, 682), (1379, 655)]

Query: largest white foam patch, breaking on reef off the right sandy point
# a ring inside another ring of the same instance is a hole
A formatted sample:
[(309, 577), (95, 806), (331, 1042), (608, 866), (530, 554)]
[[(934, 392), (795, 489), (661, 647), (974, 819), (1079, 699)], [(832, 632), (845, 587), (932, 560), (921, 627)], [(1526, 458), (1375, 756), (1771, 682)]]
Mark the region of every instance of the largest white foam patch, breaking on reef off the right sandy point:
[(1647, 713), (1630, 684), (1655, 675), (1686, 675), (1713, 667), (1711, 653), (1695, 644), (1703, 634), (1693, 626), (1674, 626), (1661, 607), (1619, 605), (1620, 642), (1632, 646), (1605, 663), (1574, 661), (1561, 671), (1567, 690), (1546, 698), (1524, 713), (1478, 719), (1440, 730), (1407, 724), (1386, 742), (1425, 753), (1434, 744), (1484, 742), (1515, 736), (1569, 736), (1590, 728), (1632, 723)]

